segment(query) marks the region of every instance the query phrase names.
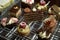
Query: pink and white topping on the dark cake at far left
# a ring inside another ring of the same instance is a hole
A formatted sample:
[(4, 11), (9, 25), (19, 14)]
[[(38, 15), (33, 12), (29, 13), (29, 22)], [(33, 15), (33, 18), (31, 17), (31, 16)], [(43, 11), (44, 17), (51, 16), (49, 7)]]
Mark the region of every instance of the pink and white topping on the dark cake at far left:
[(14, 23), (17, 23), (17, 22), (18, 22), (18, 19), (17, 18), (14, 18), (14, 17), (10, 18), (10, 20), (8, 18), (3, 18), (1, 20), (1, 24), (3, 26), (11, 25), (11, 24), (14, 24)]

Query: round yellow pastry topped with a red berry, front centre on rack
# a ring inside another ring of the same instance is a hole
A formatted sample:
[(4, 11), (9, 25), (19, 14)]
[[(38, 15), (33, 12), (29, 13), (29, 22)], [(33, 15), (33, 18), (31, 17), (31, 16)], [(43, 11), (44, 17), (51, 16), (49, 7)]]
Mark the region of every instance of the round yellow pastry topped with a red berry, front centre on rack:
[(25, 22), (21, 22), (20, 25), (18, 26), (17, 31), (19, 32), (19, 34), (28, 36), (30, 33), (29, 25), (27, 25)]

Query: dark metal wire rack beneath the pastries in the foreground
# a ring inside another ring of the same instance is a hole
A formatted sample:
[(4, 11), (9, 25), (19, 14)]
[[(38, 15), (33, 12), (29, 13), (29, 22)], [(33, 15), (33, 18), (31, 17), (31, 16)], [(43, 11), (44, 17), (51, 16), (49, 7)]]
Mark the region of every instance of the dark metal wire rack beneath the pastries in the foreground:
[[(23, 21), (23, 20), (22, 20)], [(20, 21), (21, 22), (21, 21)], [(30, 26), (30, 35), (29, 36), (21, 36), (17, 33), (17, 27), (13, 27), (11, 30), (8, 28), (0, 28), (0, 36), (1, 39), (4, 40), (37, 40), (38, 36), (36, 31), (42, 27), (42, 22), (32, 21), (28, 23)], [(59, 26), (59, 25), (58, 25)], [(58, 27), (57, 27), (58, 28)], [(52, 34), (49, 40), (59, 40), (60, 36), (57, 34), (57, 28), (55, 29), (54, 33)], [(60, 29), (58, 29), (60, 30)], [(4, 33), (4, 34), (3, 34)]]

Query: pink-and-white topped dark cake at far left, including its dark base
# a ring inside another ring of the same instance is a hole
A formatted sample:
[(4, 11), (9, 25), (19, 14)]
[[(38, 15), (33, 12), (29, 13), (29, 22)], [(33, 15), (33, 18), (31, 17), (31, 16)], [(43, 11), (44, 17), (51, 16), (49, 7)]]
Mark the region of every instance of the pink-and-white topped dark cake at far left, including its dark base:
[(18, 19), (11, 17), (11, 18), (3, 18), (1, 20), (1, 27), (7, 27), (9, 29), (12, 29), (13, 27), (16, 27), (18, 24)]

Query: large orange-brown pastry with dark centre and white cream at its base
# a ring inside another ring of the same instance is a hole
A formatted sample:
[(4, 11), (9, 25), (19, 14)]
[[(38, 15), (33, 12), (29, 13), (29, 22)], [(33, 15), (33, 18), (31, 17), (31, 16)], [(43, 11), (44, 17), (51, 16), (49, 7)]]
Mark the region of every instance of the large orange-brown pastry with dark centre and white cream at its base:
[(49, 38), (51, 33), (53, 33), (56, 28), (57, 21), (53, 15), (50, 15), (44, 20), (44, 25), (40, 29), (39, 35), (41, 38)]

